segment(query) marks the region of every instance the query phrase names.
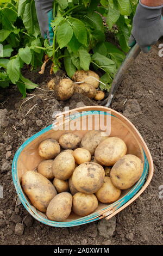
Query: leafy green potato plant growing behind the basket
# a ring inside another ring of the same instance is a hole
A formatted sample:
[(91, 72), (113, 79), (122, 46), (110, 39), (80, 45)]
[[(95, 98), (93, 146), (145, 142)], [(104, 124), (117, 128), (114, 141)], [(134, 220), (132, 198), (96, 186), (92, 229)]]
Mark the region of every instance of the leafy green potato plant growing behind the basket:
[[(34, 89), (21, 74), (23, 65), (41, 66), (43, 55), (53, 62), (53, 71), (65, 68), (71, 78), (76, 70), (101, 69), (101, 89), (110, 88), (118, 67), (128, 52), (128, 39), (137, 0), (55, 0), (51, 25), (53, 45), (41, 38), (34, 0), (0, 3), (0, 87), (16, 84), (23, 97)], [(106, 25), (105, 25), (106, 23)], [(106, 38), (115, 34), (120, 47)]]

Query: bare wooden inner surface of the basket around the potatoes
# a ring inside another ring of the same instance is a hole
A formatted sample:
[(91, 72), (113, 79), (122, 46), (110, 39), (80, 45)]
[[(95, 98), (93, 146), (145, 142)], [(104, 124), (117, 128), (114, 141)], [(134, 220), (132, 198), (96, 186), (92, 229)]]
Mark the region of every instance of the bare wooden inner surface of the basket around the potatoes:
[[(99, 117), (101, 115), (101, 113), (97, 113), (97, 117)], [(106, 112), (102, 113), (102, 115), (104, 116), (104, 123), (103, 123), (103, 127), (100, 126), (101, 125), (101, 119), (99, 118), (99, 120), (96, 118), (96, 114), (92, 115), (92, 129), (91, 130), (103, 130), (104, 126), (108, 125), (108, 120), (107, 119), (107, 115)], [(74, 132), (76, 135), (80, 136), (81, 138), (85, 135), (85, 133), (87, 131), (90, 130), (89, 127), (89, 118), (91, 116), (91, 113), (89, 113), (88, 115), (84, 115), (84, 119), (82, 119), (82, 116), (78, 116), (78, 117), (72, 117), (69, 120), (67, 120), (66, 122), (64, 122), (64, 125), (59, 125), (59, 126), (55, 126), (55, 129), (58, 130), (54, 130), (53, 126), (48, 126), (46, 129), (42, 130), (41, 132), (37, 133), (35, 136), (33, 136), (32, 138), (28, 139), (28, 141), (26, 142), (26, 145), (23, 148), (20, 148), (20, 153), (17, 157), (17, 168), (16, 168), (16, 172), (17, 172), (17, 178), (20, 181), (21, 184), (21, 177), (22, 174), (27, 172), (28, 170), (34, 170), (35, 168), (37, 168), (38, 164), (43, 160), (39, 154), (38, 154), (38, 145), (40, 144), (40, 142), (42, 142), (44, 139), (47, 138), (54, 138), (54, 139), (59, 139), (59, 137), (68, 131)], [(119, 119), (118, 117), (116, 117), (115, 115), (111, 115), (109, 114), (109, 118), (111, 118), (111, 126), (110, 126), (110, 136), (117, 136), (121, 139), (123, 139), (123, 141), (127, 144), (127, 154), (133, 154), (137, 157), (139, 157), (143, 163), (145, 162), (145, 157), (143, 154), (143, 149), (141, 146), (141, 138), (137, 138), (137, 136), (135, 136), (135, 133), (132, 131), (131, 129), (131, 125), (129, 123), (127, 123), (126, 121), (123, 121), (121, 119)], [(83, 129), (83, 120), (84, 123), (86, 124), (85, 129)], [(98, 127), (98, 123), (99, 123), (99, 127)], [(70, 126), (69, 126), (70, 125)], [(69, 126), (69, 127), (68, 127)], [(57, 128), (56, 128), (57, 127)], [(78, 127), (76, 129), (76, 127)], [(98, 129), (97, 129), (98, 127)], [(108, 127), (108, 126), (106, 126)], [(62, 129), (62, 130), (60, 130)], [(108, 129), (109, 130), (109, 129)], [(128, 194), (128, 192), (131, 190), (131, 188), (129, 190), (123, 190), (121, 193), (121, 197), (124, 197)], [(24, 194), (23, 190), (21, 190), (21, 193)], [(25, 194), (24, 194), (25, 196)], [(26, 197), (26, 196), (25, 196)], [(27, 199), (27, 197), (26, 197)], [(28, 199), (27, 199), (28, 200)], [(28, 201), (29, 202), (29, 201)], [(114, 204), (110, 204), (110, 206)], [(106, 209), (109, 205), (108, 204), (102, 204), (99, 202), (98, 208), (95, 211), (95, 213), (103, 209)], [(37, 214), (43, 216), (46, 218), (45, 214), (42, 214), (41, 212), (37, 211), (33, 206), (31, 207), (31, 210), (34, 209), (34, 211), (37, 212)], [(74, 220), (81, 220), (81, 217), (74, 214), (73, 212), (71, 213), (71, 215), (68, 217), (68, 219), (65, 222), (72, 222)], [(52, 221), (49, 221), (52, 222)]]

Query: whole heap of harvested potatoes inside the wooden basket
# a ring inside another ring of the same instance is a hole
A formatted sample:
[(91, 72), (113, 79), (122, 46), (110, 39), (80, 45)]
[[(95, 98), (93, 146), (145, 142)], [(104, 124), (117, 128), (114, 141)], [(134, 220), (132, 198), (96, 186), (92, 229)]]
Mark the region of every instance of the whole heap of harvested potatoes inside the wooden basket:
[(45, 139), (38, 153), (43, 161), (37, 171), (22, 175), (22, 188), (52, 221), (65, 221), (71, 211), (87, 216), (99, 202), (115, 202), (143, 172), (142, 161), (127, 154), (126, 143), (102, 131), (89, 131), (83, 138), (67, 132), (59, 141)]

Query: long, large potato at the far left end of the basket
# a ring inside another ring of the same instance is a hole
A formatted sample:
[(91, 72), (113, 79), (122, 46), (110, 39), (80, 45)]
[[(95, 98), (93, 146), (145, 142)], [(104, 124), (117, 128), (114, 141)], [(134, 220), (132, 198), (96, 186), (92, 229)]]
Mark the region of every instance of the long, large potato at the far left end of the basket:
[(30, 202), (41, 212), (46, 212), (49, 202), (57, 195), (51, 181), (34, 170), (22, 175), (22, 187)]

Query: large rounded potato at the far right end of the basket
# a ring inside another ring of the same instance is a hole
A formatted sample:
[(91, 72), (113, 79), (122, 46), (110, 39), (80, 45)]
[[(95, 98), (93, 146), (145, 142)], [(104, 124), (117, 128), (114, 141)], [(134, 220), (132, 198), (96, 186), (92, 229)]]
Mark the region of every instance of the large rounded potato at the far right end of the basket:
[(134, 155), (125, 155), (111, 169), (110, 178), (114, 186), (126, 190), (138, 181), (143, 173), (143, 162)]

